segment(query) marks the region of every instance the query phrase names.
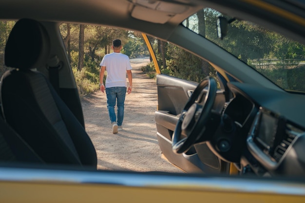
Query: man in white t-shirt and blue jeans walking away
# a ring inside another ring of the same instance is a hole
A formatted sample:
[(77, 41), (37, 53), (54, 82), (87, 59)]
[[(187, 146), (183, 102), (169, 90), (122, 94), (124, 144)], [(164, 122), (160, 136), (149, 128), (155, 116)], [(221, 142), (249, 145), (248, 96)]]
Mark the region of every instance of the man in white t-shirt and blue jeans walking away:
[[(124, 102), (127, 87), (126, 72), (129, 81), (129, 87), (127, 88), (128, 94), (132, 92), (133, 75), (129, 57), (120, 53), (122, 49), (121, 40), (114, 39), (112, 45), (114, 52), (105, 55), (99, 64), (101, 66), (99, 86), (101, 92), (106, 90), (107, 109), (112, 124), (112, 132), (117, 133), (123, 129)], [(103, 78), (105, 70), (107, 71), (107, 77), (104, 85)], [(115, 103), (117, 106), (117, 120), (114, 111)]]

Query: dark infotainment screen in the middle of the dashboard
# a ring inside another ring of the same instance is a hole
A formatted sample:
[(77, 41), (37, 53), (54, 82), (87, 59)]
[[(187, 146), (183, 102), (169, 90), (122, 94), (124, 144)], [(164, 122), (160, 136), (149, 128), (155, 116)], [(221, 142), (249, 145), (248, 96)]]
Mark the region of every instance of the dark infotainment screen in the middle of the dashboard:
[(255, 139), (263, 145), (264, 148), (270, 149), (273, 147), (275, 134), (278, 127), (278, 119), (266, 112), (262, 112), (255, 133)]

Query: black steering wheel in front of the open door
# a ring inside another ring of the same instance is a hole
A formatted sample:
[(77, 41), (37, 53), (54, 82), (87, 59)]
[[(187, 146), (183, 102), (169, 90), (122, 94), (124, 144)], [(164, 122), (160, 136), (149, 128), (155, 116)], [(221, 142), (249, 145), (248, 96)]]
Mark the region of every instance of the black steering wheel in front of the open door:
[[(207, 93), (203, 97), (204, 89)], [(175, 131), (172, 135), (172, 151), (176, 154), (186, 152), (204, 134), (217, 91), (216, 81), (206, 77), (196, 87), (185, 105)], [(187, 135), (181, 139), (181, 134)]]

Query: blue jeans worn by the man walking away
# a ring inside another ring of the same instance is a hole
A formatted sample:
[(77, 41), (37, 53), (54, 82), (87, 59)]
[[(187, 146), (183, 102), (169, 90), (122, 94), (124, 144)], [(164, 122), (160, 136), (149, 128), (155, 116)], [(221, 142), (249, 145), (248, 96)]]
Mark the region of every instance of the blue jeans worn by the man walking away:
[(117, 125), (122, 126), (124, 118), (124, 102), (126, 96), (126, 87), (106, 88), (107, 109), (111, 123), (116, 122), (114, 112), (115, 102), (117, 102)]

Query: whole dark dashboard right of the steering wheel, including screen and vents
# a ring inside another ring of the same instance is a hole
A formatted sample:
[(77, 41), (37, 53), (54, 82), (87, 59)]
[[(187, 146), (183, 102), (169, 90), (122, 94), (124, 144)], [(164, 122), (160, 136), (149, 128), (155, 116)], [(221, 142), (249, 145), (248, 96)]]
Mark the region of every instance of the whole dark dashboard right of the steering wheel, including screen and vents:
[[(229, 118), (235, 130), (215, 133), (209, 143), (214, 153), (236, 163), (243, 174), (304, 175), (305, 95), (237, 82), (228, 86), (234, 98), (222, 117)], [(229, 123), (227, 120), (223, 126)], [(224, 139), (230, 147), (226, 151), (217, 147), (217, 142)]]

